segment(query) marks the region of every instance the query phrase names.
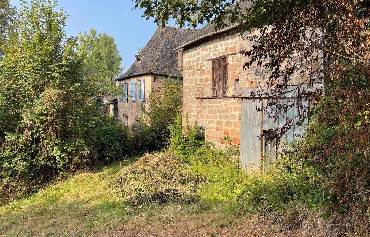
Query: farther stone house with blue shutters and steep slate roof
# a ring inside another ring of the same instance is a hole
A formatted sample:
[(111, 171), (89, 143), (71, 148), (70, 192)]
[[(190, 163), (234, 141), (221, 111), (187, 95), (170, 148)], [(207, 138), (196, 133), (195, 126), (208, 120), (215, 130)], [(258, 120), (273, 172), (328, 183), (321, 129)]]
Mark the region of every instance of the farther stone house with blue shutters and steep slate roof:
[[(197, 30), (181, 30), (159, 26), (131, 67), (115, 79), (125, 91), (118, 96), (116, 104), (117, 121), (126, 126), (140, 121), (142, 110), (148, 108), (148, 93), (160, 93), (162, 82), (169, 77), (182, 79), (182, 51), (173, 49), (183, 44)], [(114, 105), (111, 105), (112, 112)]]

